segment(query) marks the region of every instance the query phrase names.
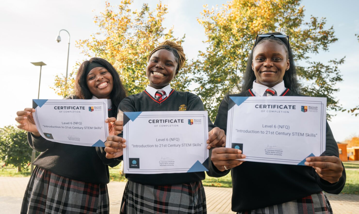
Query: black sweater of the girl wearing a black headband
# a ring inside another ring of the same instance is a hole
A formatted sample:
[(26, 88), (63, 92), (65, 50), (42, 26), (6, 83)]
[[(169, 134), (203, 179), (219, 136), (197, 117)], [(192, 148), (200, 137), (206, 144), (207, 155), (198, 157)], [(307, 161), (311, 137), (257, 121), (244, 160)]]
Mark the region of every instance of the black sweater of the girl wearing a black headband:
[[(76, 99), (69, 96), (65, 99)], [(116, 110), (108, 110), (109, 117), (116, 117)], [(107, 159), (103, 147), (77, 146), (35, 137), (28, 132), (31, 148), (41, 152), (33, 162), (35, 166), (57, 175), (93, 184), (108, 184), (108, 166), (115, 167), (117, 159)]]

